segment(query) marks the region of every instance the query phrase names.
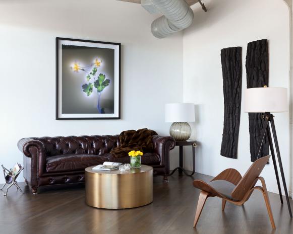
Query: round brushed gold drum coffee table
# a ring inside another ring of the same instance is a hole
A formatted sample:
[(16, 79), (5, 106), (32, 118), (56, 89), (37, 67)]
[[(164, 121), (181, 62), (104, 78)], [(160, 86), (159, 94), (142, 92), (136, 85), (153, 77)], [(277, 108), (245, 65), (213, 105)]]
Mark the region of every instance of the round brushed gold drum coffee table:
[(153, 201), (153, 168), (142, 165), (129, 171), (85, 169), (85, 202), (105, 209), (125, 209)]

